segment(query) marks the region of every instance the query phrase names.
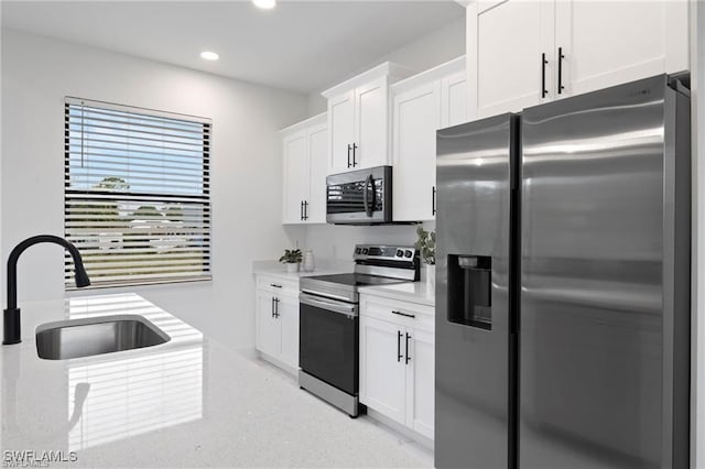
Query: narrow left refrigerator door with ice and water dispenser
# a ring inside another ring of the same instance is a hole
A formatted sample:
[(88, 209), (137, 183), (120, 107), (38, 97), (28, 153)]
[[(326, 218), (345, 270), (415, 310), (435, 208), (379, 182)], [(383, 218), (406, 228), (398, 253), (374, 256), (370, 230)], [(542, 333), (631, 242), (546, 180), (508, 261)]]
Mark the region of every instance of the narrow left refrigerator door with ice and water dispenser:
[(434, 444), (438, 468), (508, 466), (514, 130), (516, 117), (505, 114), (437, 132)]

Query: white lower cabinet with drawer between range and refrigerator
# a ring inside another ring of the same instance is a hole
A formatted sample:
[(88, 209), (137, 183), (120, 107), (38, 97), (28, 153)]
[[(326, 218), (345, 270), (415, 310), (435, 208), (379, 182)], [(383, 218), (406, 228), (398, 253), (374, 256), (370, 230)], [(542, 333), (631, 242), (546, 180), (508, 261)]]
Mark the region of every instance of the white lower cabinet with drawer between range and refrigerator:
[(430, 439), (433, 321), (433, 307), (360, 295), (360, 402)]

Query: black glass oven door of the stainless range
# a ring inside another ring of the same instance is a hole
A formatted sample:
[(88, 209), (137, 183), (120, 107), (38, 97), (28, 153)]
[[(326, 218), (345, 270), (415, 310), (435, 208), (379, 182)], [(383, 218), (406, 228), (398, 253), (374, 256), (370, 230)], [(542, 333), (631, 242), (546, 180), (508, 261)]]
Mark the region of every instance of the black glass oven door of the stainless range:
[(345, 391), (358, 393), (358, 306), (301, 293), (299, 362), (301, 369)]

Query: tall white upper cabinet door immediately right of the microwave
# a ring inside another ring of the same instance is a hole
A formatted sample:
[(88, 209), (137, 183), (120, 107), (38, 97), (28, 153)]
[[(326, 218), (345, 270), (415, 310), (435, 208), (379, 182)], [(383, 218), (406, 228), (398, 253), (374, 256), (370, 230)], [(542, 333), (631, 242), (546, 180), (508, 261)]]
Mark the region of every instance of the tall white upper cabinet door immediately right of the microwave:
[(393, 107), (394, 220), (433, 220), (440, 80), (394, 96)]

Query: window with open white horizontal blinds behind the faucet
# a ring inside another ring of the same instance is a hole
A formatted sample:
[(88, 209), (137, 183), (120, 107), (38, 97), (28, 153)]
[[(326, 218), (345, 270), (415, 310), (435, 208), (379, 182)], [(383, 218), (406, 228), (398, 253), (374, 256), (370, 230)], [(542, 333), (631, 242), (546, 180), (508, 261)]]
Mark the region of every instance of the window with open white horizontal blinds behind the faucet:
[(76, 98), (64, 112), (65, 234), (93, 286), (209, 280), (210, 121)]

